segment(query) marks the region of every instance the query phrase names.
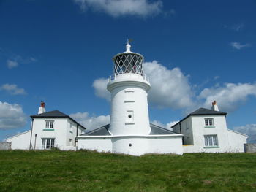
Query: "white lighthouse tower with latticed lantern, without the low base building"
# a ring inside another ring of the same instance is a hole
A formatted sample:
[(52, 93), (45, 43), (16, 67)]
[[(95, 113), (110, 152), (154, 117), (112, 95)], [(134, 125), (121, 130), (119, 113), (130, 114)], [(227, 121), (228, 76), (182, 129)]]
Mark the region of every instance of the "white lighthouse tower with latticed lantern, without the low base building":
[(127, 50), (114, 56), (114, 74), (108, 82), (111, 93), (109, 131), (113, 135), (147, 135), (151, 128), (148, 118), (150, 84), (143, 73), (143, 55)]

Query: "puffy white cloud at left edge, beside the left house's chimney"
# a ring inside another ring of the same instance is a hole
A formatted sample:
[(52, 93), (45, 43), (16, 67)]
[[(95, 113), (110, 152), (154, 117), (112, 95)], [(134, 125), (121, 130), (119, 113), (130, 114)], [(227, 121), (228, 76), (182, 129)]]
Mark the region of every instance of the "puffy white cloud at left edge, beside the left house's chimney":
[(20, 128), (26, 125), (26, 115), (18, 104), (0, 101), (0, 129)]

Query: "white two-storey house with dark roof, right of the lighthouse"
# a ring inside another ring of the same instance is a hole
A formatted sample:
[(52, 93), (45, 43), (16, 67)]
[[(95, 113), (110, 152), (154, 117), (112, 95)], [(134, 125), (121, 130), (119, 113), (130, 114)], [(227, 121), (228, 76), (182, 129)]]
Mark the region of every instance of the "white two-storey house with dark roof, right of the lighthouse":
[(184, 153), (244, 152), (247, 136), (228, 129), (226, 115), (226, 112), (219, 112), (214, 101), (211, 110), (195, 110), (172, 126), (174, 132), (184, 136)]

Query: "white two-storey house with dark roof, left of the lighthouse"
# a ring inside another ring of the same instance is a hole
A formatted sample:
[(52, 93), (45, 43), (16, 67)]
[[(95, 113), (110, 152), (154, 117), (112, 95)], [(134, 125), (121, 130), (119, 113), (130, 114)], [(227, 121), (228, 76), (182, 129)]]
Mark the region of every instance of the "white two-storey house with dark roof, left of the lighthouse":
[(6, 139), (12, 143), (12, 149), (76, 150), (75, 137), (83, 133), (84, 126), (58, 110), (46, 112), (44, 102), (38, 113), (31, 115), (31, 130)]

